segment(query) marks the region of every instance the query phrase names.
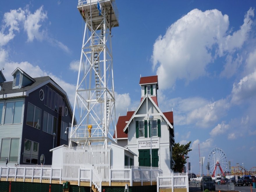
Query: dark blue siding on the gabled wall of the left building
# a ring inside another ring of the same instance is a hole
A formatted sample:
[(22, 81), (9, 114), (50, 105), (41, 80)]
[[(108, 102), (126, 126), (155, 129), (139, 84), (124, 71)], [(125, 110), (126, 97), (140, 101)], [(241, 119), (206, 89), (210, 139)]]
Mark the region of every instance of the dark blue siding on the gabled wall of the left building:
[[(56, 93), (59, 95), (62, 95), (64, 98), (63, 94), (58, 92), (55, 88), (53, 88), (49, 83), (47, 84), (49, 88), (54, 90)], [(57, 118), (57, 126), (56, 130), (58, 129), (58, 113), (49, 108), (48, 106), (45, 106), (44, 100), (41, 101), (39, 98), (39, 91), (40, 89), (44, 90), (45, 93), (45, 86), (42, 86), (41, 88), (38, 88), (37, 90), (33, 91), (32, 93), (29, 94), (29, 97), (25, 98), (25, 105), (24, 105), (24, 125), (23, 125), (23, 131), (22, 131), (22, 146), (21, 146), (21, 158), (20, 158), (20, 163), (23, 163), (23, 156), (22, 152), (24, 150), (24, 140), (28, 139), (34, 142), (39, 143), (39, 152), (38, 152), (38, 164), (40, 163), (40, 156), (41, 154), (45, 155), (45, 164), (51, 164), (51, 158), (52, 158), (52, 152), (49, 152), (50, 149), (53, 148), (53, 137), (52, 134), (48, 134), (42, 130), (43, 126), (43, 114), (44, 111), (53, 115), (54, 117)], [(44, 99), (47, 99), (46, 97)], [(34, 127), (31, 127), (29, 125), (26, 125), (26, 117), (27, 117), (27, 109), (28, 109), (28, 102), (37, 106), (38, 108), (41, 109), (41, 122), (40, 122), (40, 130), (36, 129)], [(65, 106), (67, 106), (67, 102), (65, 101)], [(63, 109), (64, 110), (64, 109)], [(70, 111), (68, 111), (67, 116), (62, 116), (62, 121), (65, 123), (69, 124), (72, 122), (72, 116), (70, 114)], [(54, 139), (54, 147), (56, 147), (56, 142), (57, 142), (57, 135)], [(68, 141), (61, 139), (61, 145), (65, 144), (67, 145)]]

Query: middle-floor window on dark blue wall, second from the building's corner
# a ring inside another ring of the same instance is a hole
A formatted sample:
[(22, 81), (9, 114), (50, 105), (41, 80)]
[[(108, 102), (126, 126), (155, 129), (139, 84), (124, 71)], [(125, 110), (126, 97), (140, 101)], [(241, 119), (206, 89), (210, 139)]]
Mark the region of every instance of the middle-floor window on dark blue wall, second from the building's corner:
[(44, 111), (43, 131), (53, 134), (56, 133), (57, 118)]

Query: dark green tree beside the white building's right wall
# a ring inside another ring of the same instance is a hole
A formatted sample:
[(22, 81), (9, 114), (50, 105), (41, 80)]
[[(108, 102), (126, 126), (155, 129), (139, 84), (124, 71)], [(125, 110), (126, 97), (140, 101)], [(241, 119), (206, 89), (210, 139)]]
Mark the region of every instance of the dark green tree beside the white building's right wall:
[(188, 158), (188, 152), (191, 151), (191, 149), (189, 149), (190, 144), (191, 141), (186, 145), (174, 143), (173, 160), (175, 161), (175, 166), (173, 167), (173, 171), (182, 172), (183, 166), (187, 163), (186, 159)]

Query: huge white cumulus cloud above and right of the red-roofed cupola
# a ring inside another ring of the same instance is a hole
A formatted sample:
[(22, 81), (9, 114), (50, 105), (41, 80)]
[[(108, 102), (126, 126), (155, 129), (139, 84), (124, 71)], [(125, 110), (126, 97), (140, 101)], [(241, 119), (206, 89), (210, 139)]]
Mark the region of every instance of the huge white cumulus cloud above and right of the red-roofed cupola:
[(204, 76), (207, 65), (217, 56), (241, 48), (252, 22), (246, 24), (253, 16), (254, 9), (250, 8), (243, 25), (232, 34), (228, 32), (228, 16), (216, 9), (204, 12), (194, 9), (173, 23), (153, 46), (153, 68), (157, 67), (161, 87), (168, 89), (177, 79), (188, 83)]

